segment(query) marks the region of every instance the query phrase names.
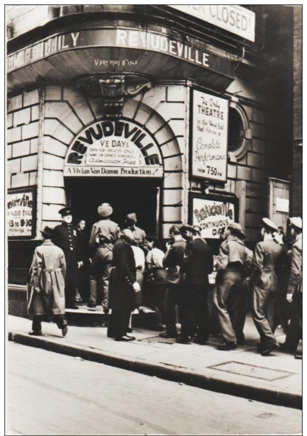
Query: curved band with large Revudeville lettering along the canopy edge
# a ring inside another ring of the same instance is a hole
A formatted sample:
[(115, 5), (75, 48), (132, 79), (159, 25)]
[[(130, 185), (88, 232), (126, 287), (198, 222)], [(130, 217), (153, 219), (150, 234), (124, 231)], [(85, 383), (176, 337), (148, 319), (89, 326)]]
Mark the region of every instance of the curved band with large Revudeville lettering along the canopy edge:
[[(228, 75), (233, 74), (232, 62), (225, 57), (185, 44), (181, 38), (176, 39), (168, 33), (127, 28), (84, 29), (53, 35), (19, 52), (10, 54), (7, 57), (7, 72), (62, 51), (83, 47), (121, 47), (149, 50), (168, 54), (213, 71), (224, 71)], [(129, 62), (126, 62), (125, 66), (129, 66)]]

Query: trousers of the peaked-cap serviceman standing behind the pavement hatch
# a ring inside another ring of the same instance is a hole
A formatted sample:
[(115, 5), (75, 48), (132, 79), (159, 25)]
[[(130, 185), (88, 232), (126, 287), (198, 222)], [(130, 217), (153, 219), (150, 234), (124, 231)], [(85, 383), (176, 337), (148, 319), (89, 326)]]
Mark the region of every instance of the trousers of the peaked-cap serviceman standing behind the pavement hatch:
[(254, 285), (253, 320), (260, 335), (261, 346), (271, 346), (276, 343), (272, 332), (274, 325), (274, 310), (278, 294)]

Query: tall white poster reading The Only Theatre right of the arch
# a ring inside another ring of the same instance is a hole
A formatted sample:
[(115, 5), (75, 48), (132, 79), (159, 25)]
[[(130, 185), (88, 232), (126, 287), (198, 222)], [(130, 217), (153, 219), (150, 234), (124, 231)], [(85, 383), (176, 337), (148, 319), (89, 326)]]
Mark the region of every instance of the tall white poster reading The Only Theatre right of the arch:
[(227, 179), (228, 100), (193, 90), (192, 176)]

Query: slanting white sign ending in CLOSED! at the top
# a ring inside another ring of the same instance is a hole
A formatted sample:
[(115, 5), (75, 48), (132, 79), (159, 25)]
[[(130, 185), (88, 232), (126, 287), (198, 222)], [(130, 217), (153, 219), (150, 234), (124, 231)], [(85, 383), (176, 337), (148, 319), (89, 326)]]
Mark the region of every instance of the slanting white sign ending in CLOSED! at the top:
[(255, 41), (255, 12), (238, 4), (168, 4), (249, 41)]

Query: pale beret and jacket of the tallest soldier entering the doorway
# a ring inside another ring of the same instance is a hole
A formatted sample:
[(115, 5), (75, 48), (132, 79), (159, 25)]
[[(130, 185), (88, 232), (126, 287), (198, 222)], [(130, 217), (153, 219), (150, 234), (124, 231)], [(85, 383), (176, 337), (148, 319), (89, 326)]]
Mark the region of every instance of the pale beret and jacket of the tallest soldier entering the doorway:
[(104, 236), (108, 240), (116, 241), (119, 238), (119, 225), (110, 219), (113, 213), (112, 206), (108, 203), (102, 203), (98, 209), (98, 214), (101, 216), (100, 221), (95, 222), (92, 227), (90, 236), (90, 247), (96, 247), (99, 244), (98, 235)]

